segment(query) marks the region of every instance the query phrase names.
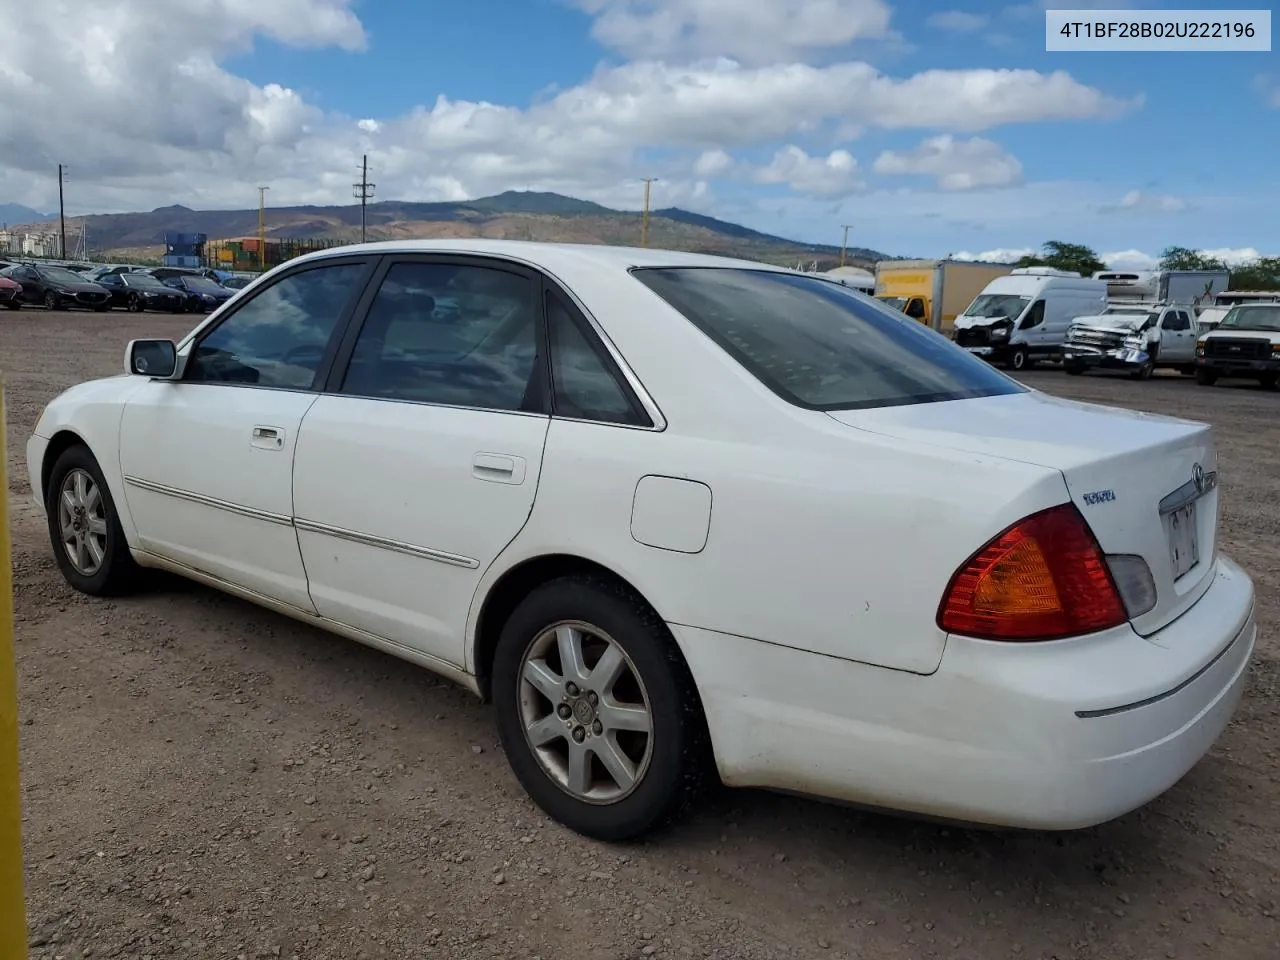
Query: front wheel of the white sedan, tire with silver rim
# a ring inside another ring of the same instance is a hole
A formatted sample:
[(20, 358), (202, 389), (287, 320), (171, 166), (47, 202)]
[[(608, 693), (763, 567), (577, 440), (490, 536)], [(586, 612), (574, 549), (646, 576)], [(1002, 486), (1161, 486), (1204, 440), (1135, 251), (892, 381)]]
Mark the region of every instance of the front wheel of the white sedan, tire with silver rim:
[[(96, 498), (92, 494), (95, 489)], [(83, 549), (77, 550), (77, 562), (72, 561), (63, 536), (64, 524), (70, 526), (74, 520), (64, 507), (64, 493), (77, 500), (77, 507), (83, 508), (82, 520), (97, 521), (96, 529), (83, 531)], [(49, 515), (49, 540), (54, 548), (54, 559), (68, 584), (91, 596), (116, 596), (137, 586), (141, 570), (129, 554), (115, 500), (102, 479), (101, 467), (83, 444), (63, 451), (54, 462), (49, 488), (45, 490), (45, 511)], [(90, 545), (91, 541), (97, 545), (96, 550)], [(97, 553), (101, 554), (101, 561), (91, 566)], [(81, 561), (90, 563), (82, 564)]]

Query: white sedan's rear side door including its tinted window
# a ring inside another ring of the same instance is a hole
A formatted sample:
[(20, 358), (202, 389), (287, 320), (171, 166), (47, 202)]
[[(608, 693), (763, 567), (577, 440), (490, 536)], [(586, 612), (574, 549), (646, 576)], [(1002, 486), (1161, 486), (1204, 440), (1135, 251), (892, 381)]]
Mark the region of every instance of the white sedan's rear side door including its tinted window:
[(388, 257), (298, 438), (294, 524), (320, 616), (465, 666), (471, 598), (541, 471), (540, 283), (502, 260)]

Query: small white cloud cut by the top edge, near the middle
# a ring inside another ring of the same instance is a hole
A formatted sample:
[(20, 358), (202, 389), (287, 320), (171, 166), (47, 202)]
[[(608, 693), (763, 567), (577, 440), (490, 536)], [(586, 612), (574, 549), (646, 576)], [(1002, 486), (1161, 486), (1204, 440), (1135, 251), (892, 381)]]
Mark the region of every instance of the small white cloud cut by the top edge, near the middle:
[(883, 0), (572, 1), (595, 17), (591, 36), (637, 59), (794, 63), (855, 40), (892, 36)]

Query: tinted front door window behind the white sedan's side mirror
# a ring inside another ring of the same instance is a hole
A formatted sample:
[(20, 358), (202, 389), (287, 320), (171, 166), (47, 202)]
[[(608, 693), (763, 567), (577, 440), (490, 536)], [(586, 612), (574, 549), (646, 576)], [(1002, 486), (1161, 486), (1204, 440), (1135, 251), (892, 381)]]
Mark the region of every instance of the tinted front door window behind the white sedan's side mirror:
[(310, 388), (364, 273), (364, 264), (335, 264), (273, 283), (196, 344), (183, 379)]

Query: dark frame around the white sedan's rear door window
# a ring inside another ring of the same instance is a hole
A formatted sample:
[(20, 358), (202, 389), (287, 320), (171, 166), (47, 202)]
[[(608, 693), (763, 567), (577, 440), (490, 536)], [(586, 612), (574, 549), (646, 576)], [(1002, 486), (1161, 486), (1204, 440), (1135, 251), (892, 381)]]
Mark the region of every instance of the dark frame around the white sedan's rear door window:
[(324, 383), (320, 385), (320, 392), (326, 394), (334, 394), (339, 397), (356, 397), (357, 394), (343, 393), (342, 384), (347, 378), (347, 369), (351, 366), (351, 358), (356, 352), (356, 344), (360, 340), (360, 334), (365, 329), (365, 324), (369, 321), (369, 311), (374, 306), (374, 301), (378, 298), (378, 292), (383, 285), (383, 280), (392, 271), (392, 268), (398, 264), (429, 264), (433, 266), (474, 266), (489, 270), (503, 270), (509, 274), (516, 274), (524, 276), (529, 280), (530, 297), (534, 302), (531, 303), (534, 308), (534, 335), (538, 342), (538, 355), (535, 362), (540, 366), (539, 379), (543, 384), (543, 402), (540, 410), (502, 410), (498, 407), (470, 407), (460, 406), (454, 403), (433, 403), (429, 401), (412, 401), (412, 399), (397, 399), (392, 397), (365, 397), (364, 399), (374, 399), (383, 403), (417, 403), (429, 407), (445, 407), (449, 410), (480, 410), (486, 413), (507, 413), (511, 416), (538, 416), (545, 417), (550, 413), (549, 407), (549, 388), (550, 383), (549, 375), (549, 360), (548, 351), (549, 344), (547, 340), (547, 315), (543, 307), (541, 297), (539, 296), (541, 291), (540, 276), (536, 270), (530, 269), (527, 265), (521, 264), (515, 260), (506, 260), (503, 257), (492, 256), (477, 256), (468, 253), (385, 253), (383, 255), (381, 262), (378, 269), (372, 271), (365, 283), (365, 291), (356, 302), (356, 308), (349, 316), (347, 323), (347, 329), (343, 335), (337, 340), (337, 347), (333, 353), (333, 362), (329, 365)]

